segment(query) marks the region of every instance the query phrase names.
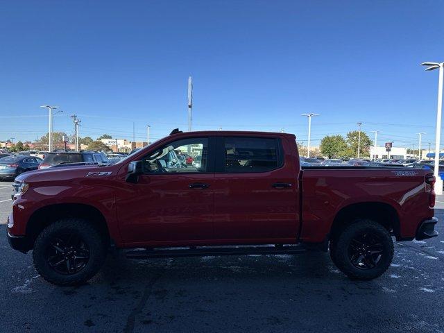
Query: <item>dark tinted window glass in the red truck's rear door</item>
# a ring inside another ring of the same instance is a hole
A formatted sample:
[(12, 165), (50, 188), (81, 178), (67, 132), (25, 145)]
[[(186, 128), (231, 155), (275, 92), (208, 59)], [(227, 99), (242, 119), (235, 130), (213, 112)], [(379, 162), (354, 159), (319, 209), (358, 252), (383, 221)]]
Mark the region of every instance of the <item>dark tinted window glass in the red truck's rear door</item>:
[(225, 137), (224, 171), (264, 172), (282, 165), (280, 140), (263, 137)]

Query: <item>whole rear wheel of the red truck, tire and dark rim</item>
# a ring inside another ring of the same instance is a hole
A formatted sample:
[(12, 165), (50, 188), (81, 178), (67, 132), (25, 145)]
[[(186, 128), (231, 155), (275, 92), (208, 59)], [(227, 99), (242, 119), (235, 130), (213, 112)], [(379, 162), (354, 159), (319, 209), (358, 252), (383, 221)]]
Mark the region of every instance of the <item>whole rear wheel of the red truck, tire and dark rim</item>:
[(384, 226), (371, 220), (355, 221), (330, 250), (334, 264), (354, 280), (372, 280), (382, 275), (393, 259), (393, 241)]

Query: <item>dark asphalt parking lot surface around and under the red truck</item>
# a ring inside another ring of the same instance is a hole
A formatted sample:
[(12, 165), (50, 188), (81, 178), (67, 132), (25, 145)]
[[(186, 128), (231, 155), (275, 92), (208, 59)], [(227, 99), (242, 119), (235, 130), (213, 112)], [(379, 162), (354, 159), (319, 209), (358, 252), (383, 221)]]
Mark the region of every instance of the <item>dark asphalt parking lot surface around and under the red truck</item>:
[[(0, 182), (0, 221), (12, 201)], [(436, 216), (444, 219), (444, 198)], [(0, 225), (0, 332), (444, 332), (444, 234), (395, 244), (377, 280), (345, 278), (326, 253), (129, 260), (56, 287)]]

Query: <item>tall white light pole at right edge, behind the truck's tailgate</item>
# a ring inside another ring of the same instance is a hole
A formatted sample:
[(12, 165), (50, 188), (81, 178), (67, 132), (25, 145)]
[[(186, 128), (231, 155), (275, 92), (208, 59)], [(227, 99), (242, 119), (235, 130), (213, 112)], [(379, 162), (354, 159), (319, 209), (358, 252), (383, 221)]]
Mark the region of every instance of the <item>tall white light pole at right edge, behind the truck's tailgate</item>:
[(439, 176), (439, 141), (441, 140), (441, 112), (443, 109), (443, 76), (444, 62), (422, 62), (422, 66), (429, 66), (425, 70), (433, 71), (439, 69), (438, 78), (438, 108), (436, 110), (436, 139), (435, 139), (435, 166), (434, 176), (436, 178), (436, 194), (443, 194), (443, 180)]

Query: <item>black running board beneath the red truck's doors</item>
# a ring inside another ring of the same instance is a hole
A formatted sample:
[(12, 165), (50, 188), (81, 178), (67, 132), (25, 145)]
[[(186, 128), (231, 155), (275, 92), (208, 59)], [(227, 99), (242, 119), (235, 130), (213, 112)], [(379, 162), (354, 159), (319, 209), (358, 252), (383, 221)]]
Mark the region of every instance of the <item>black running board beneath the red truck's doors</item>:
[(305, 253), (302, 246), (241, 246), (216, 247), (198, 246), (191, 248), (155, 248), (153, 250), (129, 250), (128, 259), (171, 258), (171, 257), (203, 257), (213, 255), (296, 255)]

